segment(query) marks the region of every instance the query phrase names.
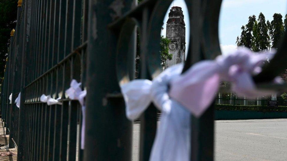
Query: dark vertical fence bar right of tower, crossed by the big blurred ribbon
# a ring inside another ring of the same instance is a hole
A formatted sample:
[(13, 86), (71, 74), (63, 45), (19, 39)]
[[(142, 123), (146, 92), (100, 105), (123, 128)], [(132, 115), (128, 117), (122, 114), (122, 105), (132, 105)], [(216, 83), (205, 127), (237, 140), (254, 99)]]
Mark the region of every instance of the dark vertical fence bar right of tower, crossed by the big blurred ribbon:
[[(202, 59), (204, 46), (201, 44), (203, 37), (203, 14), (205, 12), (206, 1), (194, 0), (187, 2), (191, 6), (189, 15), (191, 17), (191, 48), (183, 71), (186, 71), (192, 64)], [(191, 160), (213, 160), (214, 148), (214, 106), (211, 105), (200, 118), (191, 116)]]

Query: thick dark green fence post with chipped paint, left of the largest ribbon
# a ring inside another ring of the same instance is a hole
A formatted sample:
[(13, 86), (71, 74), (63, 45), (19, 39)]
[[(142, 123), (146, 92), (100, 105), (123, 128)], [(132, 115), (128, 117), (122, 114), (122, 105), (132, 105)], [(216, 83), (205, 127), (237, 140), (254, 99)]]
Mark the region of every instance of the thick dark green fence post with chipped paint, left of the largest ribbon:
[(86, 134), (84, 160), (131, 160), (132, 123), (127, 120), (116, 77), (116, 39), (107, 27), (133, 0), (89, 1)]

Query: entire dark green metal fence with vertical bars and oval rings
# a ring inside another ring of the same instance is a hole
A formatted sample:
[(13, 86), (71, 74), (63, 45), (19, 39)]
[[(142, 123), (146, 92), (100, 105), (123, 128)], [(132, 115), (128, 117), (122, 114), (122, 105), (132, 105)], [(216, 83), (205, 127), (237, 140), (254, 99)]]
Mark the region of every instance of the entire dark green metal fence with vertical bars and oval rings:
[[(136, 31), (140, 36), (139, 78), (162, 70), (159, 57), (163, 18), (172, 0), (19, 0), (2, 81), (1, 113), (18, 160), (131, 160), (132, 122), (125, 116), (119, 84), (134, 79)], [(184, 71), (220, 54), (221, 0), (186, 0), (191, 35)], [(286, 37), (283, 43), (286, 43)], [(287, 46), (254, 77), (259, 88), (286, 68)], [(276, 69), (276, 70), (274, 70)], [(81, 109), (64, 91), (72, 79), (87, 89), (85, 150), (80, 150)], [(15, 98), (21, 92), (20, 108)], [(12, 94), (12, 104), (9, 94)], [(48, 106), (42, 94), (61, 97)], [(151, 104), (141, 116), (140, 160), (148, 160), (157, 126)], [(191, 160), (213, 160), (214, 105), (192, 117)]]

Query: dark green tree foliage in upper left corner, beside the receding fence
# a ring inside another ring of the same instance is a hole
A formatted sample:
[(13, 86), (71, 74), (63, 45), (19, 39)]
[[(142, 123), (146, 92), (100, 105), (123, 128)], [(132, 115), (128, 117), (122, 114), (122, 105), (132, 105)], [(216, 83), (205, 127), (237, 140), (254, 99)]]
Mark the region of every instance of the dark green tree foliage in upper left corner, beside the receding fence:
[(0, 78), (10, 45), (10, 32), (16, 26), (18, 0), (0, 0)]

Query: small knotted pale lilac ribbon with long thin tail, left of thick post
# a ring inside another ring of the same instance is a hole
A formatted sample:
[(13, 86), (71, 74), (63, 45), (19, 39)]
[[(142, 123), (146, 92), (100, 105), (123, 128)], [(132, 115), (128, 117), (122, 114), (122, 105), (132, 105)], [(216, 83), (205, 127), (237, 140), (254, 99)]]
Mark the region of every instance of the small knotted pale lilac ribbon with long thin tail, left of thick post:
[(78, 83), (75, 79), (71, 81), (70, 88), (65, 91), (66, 95), (72, 100), (78, 100), (82, 106), (82, 129), (81, 129), (81, 149), (84, 149), (84, 140), (85, 140), (85, 122), (86, 122), (86, 106), (84, 98), (87, 95), (87, 91), (81, 89), (81, 84)]

